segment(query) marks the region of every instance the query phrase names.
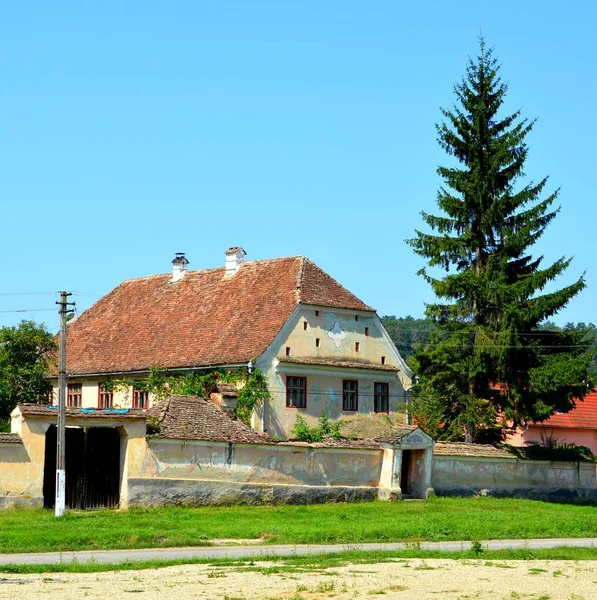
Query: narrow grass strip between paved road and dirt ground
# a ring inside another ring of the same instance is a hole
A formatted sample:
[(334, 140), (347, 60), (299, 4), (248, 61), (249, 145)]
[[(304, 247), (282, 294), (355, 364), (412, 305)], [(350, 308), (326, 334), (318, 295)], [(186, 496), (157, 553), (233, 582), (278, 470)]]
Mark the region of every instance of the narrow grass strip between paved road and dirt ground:
[[(485, 567), (505, 568), (503, 561), (516, 560), (597, 560), (597, 548), (567, 548), (552, 549), (519, 549), (519, 550), (485, 550), (481, 555), (471, 551), (442, 552), (439, 550), (400, 550), (400, 551), (362, 551), (350, 550), (334, 554), (318, 554), (313, 556), (259, 556), (250, 559), (208, 559), (189, 558), (179, 560), (147, 560), (126, 561), (117, 564), (104, 564), (98, 562), (64, 562), (48, 565), (0, 565), (0, 573), (31, 574), (31, 573), (100, 573), (106, 571), (131, 571), (144, 569), (159, 569), (179, 565), (210, 565), (214, 569), (232, 569), (238, 572), (257, 571), (263, 575), (278, 573), (324, 573), (327, 569), (334, 569), (346, 565), (366, 565), (382, 562), (396, 562), (403, 567), (408, 567), (408, 560), (413, 558), (442, 558), (452, 560), (475, 560), (474, 564)], [(499, 561), (499, 562), (493, 562)], [(260, 566), (262, 562), (275, 562), (275, 566)], [(212, 574), (213, 573), (213, 574)], [(560, 573), (554, 571), (554, 576)], [(208, 577), (225, 577), (226, 573), (219, 570), (210, 571)], [(299, 590), (297, 591), (305, 591)]]

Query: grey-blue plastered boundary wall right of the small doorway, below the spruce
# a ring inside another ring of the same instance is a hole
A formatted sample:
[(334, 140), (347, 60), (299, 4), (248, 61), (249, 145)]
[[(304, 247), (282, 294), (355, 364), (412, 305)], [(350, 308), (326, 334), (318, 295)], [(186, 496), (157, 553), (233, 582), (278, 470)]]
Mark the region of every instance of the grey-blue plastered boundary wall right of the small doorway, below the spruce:
[(597, 501), (596, 468), (593, 463), (442, 454), (433, 457), (431, 485), (438, 496)]

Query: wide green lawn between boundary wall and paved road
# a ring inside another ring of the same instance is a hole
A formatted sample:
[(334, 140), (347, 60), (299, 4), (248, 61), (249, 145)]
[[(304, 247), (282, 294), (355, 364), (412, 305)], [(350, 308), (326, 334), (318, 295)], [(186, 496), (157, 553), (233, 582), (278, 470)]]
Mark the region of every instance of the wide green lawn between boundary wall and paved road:
[(597, 506), (496, 498), (432, 498), (308, 506), (68, 512), (0, 511), (0, 552), (207, 545), (597, 537)]

